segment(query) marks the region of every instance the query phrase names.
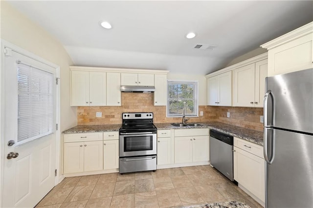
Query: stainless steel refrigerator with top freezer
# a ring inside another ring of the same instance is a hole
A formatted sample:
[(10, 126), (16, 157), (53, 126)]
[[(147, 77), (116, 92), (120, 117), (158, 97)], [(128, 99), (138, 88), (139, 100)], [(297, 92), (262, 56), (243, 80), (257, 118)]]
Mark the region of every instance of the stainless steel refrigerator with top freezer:
[(313, 208), (313, 69), (266, 78), (266, 208)]

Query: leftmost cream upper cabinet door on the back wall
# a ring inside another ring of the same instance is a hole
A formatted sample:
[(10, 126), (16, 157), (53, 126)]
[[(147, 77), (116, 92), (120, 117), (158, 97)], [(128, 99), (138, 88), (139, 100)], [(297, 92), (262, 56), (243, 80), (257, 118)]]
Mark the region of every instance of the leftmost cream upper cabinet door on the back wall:
[(89, 72), (71, 71), (71, 106), (89, 106)]

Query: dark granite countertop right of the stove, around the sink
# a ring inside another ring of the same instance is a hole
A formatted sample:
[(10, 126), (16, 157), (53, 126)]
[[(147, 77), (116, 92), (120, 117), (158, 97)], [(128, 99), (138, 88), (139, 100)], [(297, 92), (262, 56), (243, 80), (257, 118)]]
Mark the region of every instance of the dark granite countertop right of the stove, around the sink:
[[(188, 123), (188, 122), (187, 122)], [(201, 124), (202, 126), (196, 127), (175, 127), (170, 123), (155, 123), (155, 126), (158, 130), (164, 129), (201, 129), (201, 128), (209, 128), (212, 130), (216, 130), (219, 132), (223, 132), (229, 134), (231, 136), (235, 136), (246, 141), (252, 142), (257, 145), (263, 146), (263, 132), (246, 129), (238, 126), (233, 126), (229, 124), (224, 124), (221, 122), (196, 122)]]

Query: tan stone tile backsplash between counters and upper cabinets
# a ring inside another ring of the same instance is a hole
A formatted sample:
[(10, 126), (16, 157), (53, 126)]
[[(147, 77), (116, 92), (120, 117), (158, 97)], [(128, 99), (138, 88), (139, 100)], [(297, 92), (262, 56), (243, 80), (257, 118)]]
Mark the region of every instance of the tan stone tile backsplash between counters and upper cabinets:
[[(181, 118), (167, 118), (166, 106), (154, 106), (152, 93), (122, 93), (122, 106), (77, 107), (77, 125), (100, 125), (122, 123), (122, 113), (153, 112), (155, 123), (180, 122)], [(203, 116), (191, 117), (188, 122), (219, 121), (243, 128), (263, 131), (260, 115), (263, 108), (199, 106)], [(102, 117), (96, 117), (102, 112)], [(226, 113), (230, 112), (230, 118)], [(200, 113), (199, 113), (200, 114)]]

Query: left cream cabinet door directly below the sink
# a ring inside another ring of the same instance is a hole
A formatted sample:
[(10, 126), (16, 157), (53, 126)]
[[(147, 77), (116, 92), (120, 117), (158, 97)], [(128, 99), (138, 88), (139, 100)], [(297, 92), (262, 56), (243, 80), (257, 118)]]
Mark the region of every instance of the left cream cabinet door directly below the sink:
[(175, 137), (175, 163), (192, 162), (192, 138), (189, 136)]

